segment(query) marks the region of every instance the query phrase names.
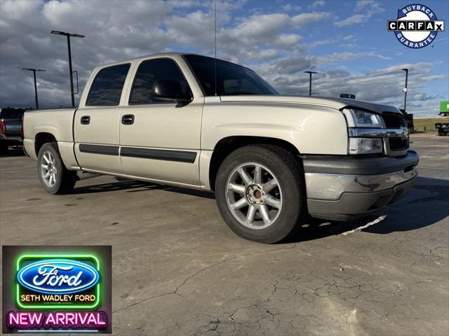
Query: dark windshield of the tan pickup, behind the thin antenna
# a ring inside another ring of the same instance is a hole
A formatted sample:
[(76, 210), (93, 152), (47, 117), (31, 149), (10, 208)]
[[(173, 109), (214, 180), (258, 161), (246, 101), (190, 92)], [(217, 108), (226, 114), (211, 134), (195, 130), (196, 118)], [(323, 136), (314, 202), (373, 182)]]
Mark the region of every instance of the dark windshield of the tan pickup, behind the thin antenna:
[[(215, 59), (184, 55), (206, 96), (215, 95)], [(279, 94), (253, 70), (217, 59), (217, 95)]]

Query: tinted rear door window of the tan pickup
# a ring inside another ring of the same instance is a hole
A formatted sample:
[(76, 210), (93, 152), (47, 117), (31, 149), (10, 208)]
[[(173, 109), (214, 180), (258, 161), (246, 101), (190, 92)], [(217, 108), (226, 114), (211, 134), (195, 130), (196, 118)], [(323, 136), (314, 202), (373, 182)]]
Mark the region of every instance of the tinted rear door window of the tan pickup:
[(101, 69), (89, 91), (87, 106), (116, 106), (120, 103), (121, 92), (130, 64), (119, 64)]

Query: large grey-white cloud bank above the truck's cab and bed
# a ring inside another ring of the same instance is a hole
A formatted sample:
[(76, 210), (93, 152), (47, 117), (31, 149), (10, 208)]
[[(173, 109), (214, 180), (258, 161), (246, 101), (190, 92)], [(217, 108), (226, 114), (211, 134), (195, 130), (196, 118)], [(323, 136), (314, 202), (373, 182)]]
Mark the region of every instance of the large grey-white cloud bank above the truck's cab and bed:
[[(269, 13), (231, 18), (245, 1), (218, 1), (219, 56), (235, 62), (267, 61), (299, 52), (302, 36), (286, 32), (330, 18), (330, 13)], [(105, 6), (105, 4), (107, 4)], [(24, 20), (26, 18), (26, 20)], [(91, 69), (119, 59), (188, 48), (213, 55), (213, 3), (206, 1), (1, 1), (0, 104), (32, 105), (33, 87), (22, 66), (39, 73), (41, 106), (69, 104), (67, 40), (72, 38), (80, 88)], [(79, 97), (79, 96), (78, 96)]]

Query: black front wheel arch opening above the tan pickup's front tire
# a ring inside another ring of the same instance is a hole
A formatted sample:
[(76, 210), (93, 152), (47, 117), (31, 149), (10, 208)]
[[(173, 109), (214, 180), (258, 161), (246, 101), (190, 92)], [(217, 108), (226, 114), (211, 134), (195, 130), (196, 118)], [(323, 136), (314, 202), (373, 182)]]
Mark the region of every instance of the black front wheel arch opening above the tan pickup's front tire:
[(218, 169), (227, 156), (234, 152), (236, 149), (248, 145), (257, 144), (270, 144), (284, 148), (290, 154), (292, 154), (297, 160), (300, 160), (300, 151), (296, 146), (290, 142), (271, 137), (252, 137), (252, 136), (232, 136), (225, 137), (217, 142), (213, 149), (212, 156), (210, 158), (209, 165), (209, 183), (210, 190), (215, 191), (215, 179), (217, 177)]

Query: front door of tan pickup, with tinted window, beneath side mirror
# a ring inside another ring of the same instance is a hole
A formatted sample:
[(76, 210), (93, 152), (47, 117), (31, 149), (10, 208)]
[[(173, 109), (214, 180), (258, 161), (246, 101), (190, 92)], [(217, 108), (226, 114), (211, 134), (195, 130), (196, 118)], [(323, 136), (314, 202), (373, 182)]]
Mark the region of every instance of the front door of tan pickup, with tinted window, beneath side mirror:
[(124, 174), (153, 181), (199, 186), (199, 148), (203, 97), (189, 104), (157, 99), (156, 80), (177, 80), (191, 92), (174, 59), (138, 64), (128, 106), (123, 106), (120, 155)]

